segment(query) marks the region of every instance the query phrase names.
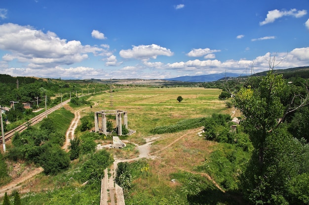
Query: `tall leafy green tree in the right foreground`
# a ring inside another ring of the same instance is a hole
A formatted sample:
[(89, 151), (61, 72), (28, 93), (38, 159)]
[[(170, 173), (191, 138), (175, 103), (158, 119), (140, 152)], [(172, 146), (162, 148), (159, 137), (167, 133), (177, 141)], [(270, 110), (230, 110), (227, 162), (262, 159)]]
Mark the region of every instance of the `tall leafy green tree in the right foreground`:
[(287, 204), (291, 202), (288, 181), (309, 172), (309, 155), (304, 157), (304, 146), (291, 137), (282, 122), (287, 114), (306, 105), (308, 94), (293, 94), (284, 105), (282, 96), (287, 85), (282, 75), (273, 74), (273, 67), (258, 81), (257, 88), (248, 85), (234, 95), (234, 106), (245, 117), (241, 124), (254, 146), (241, 177), (243, 193), (253, 204)]

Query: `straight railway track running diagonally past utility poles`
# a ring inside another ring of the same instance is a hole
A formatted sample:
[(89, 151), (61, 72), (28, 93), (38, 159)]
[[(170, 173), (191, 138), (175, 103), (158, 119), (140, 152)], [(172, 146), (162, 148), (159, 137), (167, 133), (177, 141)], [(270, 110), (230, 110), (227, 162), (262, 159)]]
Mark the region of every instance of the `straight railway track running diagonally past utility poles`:
[[(37, 115), (36, 117), (33, 117), (32, 119), (28, 120), (27, 122), (23, 123), (22, 125), (19, 125), (18, 127), (6, 132), (4, 134), (5, 142), (10, 140), (16, 132), (22, 132), (25, 129), (27, 129), (27, 127), (29, 125), (34, 125), (34, 124), (38, 123), (39, 121), (41, 121), (42, 119), (44, 119), (46, 117), (46, 114), (48, 116), (50, 113), (54, 112), (55, 110), (58, 110), (59, 108), (61, 108), (62, 105), (67, 104), (68, 102), (70, 102), (70, 99), (48, 109), (46, 112), (43, 112), (43, 113)], [(2, 140), (2, 138), (0, 138), (0, 144), (2, 144), (2, 142), (3, 142), (3, 140)]]

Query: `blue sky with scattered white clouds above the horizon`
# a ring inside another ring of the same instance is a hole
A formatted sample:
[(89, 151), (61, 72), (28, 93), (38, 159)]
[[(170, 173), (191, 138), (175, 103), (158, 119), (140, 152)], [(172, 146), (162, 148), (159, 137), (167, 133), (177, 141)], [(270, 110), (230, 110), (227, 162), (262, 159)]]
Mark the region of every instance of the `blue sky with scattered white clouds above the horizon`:
[(309, 66), (308, 0), (1, 0), (0, 73), (166, 79)]

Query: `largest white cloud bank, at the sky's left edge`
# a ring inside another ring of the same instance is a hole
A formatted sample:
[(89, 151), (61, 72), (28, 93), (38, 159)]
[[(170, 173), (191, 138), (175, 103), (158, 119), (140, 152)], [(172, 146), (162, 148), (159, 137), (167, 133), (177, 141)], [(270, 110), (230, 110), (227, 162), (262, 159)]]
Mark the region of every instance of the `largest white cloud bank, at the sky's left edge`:
[(81, 45), (80, 41), (60, 39), (54, 32), (42, 32), (30, 26), (0, 25), (0, 49), (9, 51), (2, 59), (29, 63), (32, 67), (70, 65), (98, 54), (102, 48)]

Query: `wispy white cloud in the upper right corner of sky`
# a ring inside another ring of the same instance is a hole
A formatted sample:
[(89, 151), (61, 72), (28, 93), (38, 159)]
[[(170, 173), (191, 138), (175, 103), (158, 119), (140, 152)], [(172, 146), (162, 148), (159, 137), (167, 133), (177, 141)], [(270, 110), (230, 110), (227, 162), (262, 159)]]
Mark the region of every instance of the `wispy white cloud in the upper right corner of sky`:
[(289, 11), (286, 11), (286, 10), (279, 11), (278, 9), (271, 10), (268, 12), (266, 19), (260, 22), (260, 26), (273, 23), (276, 19), (279, 19), (283, 16), (294, 16), (296, 18), (300, 18), (306, 14), (307, 14), (307, 10), (297, 10), (295, 8)]

